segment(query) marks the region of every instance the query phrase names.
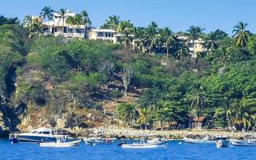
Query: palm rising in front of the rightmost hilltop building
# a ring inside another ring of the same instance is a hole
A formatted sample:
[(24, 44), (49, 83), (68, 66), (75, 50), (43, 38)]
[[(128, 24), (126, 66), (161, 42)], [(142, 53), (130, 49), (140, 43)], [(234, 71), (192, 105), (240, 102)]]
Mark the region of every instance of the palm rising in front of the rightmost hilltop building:
[(195, 43), (194, 41), (198, 40), (199, 38), (202, 38), (202, 31), (205, 30), (204, 28), (201, 28), (200, 26), (190, 26), (189, 30), (186, 30), (186, 36), (188, 37), (186, 39), (187, 44), (190, 44), (190, 42), (192, 41), (192, 45), (193, 45), (193, 50), (194, 50), (194, 55), (195, 53)]

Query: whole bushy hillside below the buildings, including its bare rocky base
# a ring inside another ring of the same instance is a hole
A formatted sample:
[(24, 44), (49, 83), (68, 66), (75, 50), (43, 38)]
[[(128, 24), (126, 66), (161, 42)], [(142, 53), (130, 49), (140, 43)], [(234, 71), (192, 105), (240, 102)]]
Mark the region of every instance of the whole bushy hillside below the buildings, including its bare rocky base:
[(200, 116), (210, 128), (255, 128), (254, 36), (246, 47), (226, 36), (197, 58), (178, 57), (179, 49), (167, 58), (108, 42), (30, 38), (18, 25), (0, 26), (0, 40), (2, 130), (173, 129)]

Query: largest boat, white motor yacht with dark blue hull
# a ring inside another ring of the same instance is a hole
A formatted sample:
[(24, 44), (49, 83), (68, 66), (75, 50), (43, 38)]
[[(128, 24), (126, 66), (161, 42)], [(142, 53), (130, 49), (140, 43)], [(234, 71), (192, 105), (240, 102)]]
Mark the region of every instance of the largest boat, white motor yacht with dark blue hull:
[(67, 135), (53, 134), (49, 128), (39, 128), (30, 133), (22, 133), (17, 136), (18, 141), (26, 142), (55, 142), (57, 138), (68, 138)]

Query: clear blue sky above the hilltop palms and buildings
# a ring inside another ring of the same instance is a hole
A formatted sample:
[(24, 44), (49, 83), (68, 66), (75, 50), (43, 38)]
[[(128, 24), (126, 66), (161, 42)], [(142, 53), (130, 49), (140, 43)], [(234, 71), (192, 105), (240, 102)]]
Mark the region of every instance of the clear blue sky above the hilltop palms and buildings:
[(86, 9), (95, 27), (116, 14), (135, 26), (155, 21), (175, 32), (194, 25), (205, 27), (206, 32), (219, 28), (231, 34), (242, 21), (256, 33), (256, 0), (0, 0), (0, 14), (23, 19), (27, 14), (39, 14), (44, 6), (74, 12)]

